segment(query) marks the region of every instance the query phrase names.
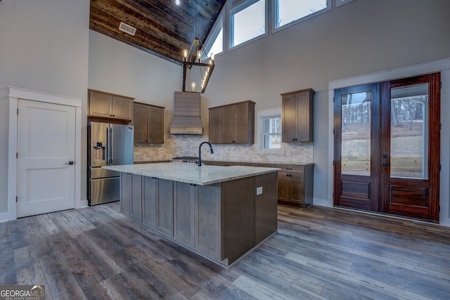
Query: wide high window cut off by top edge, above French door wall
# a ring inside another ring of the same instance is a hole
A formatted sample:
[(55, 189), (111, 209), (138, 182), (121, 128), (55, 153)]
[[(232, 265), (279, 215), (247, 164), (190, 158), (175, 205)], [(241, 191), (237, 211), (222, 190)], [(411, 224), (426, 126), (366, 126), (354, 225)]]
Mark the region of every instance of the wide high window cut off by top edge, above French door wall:
[(275, 28), (283, 27), (330, 9), (330, 0), (275, 0)]

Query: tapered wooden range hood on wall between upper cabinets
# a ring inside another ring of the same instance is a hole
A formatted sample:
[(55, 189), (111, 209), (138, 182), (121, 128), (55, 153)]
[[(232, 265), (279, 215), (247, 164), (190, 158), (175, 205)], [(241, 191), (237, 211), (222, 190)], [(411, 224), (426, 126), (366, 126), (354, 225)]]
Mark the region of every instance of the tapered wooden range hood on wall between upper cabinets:
[(169, 133), (203, 135), (203, 125), (200, 119), (200, 93), (175, 92), (174, 115)]

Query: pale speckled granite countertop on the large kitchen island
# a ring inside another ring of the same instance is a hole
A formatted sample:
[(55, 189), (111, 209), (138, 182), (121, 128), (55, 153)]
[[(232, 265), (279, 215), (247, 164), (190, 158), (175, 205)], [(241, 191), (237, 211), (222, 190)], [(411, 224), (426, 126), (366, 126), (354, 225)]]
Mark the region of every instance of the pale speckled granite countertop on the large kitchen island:
[(136, 174), (141, 176), (167, 179), (197, 185), (208, 185), (239, 178), (267, 174), (279, 171), (278, 168), (232, 166), (219, 167), (187, 162), (165, 162), (155, 164), (123, 164), (118, 166), (102, 167), (112, 171)]

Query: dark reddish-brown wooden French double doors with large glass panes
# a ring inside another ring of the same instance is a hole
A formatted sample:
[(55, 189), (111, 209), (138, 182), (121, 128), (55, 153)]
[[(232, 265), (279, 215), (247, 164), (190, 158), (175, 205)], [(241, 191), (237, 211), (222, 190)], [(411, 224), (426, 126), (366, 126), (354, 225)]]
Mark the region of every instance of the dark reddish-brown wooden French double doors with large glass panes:
[(335, 206), (439, 221), (439, 82), (335, 91)]

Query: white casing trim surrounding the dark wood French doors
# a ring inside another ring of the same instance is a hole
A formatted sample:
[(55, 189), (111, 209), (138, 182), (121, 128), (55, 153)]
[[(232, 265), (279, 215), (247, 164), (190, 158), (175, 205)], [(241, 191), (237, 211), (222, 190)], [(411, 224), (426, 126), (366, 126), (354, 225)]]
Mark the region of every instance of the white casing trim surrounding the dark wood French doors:
[[(334, 136), (333, 136), (333, 98), (335, 89), (341, 89), (347, 86), (357, 86), (360, 84), (371, 84), (381, 81), (390, 81), (394, 79), (401, 79), (406, 77), (413, 77), (420, 74), (430, 74), (441, 72), (441, 112), (450, 112), (450, 101), (442, 99), (450, 99), (450, 58), (442, 60), (435, 60), (429, 63), (420, 63), (418, 65), (411, 65), (406, 67), (399, 67), (397, 69), (386, 70), (382, 72), (375, 72), (371, 74), (364, 74), (346, 79), (338, 79), (328, 81), (328, 170), (333, 170), (334, 159)], [(441, 113), (442, 115), (442, 113)], [(450, 165), (450, 157), (444, 151), (450, 148), (450, 119), (441, 118), (441, 166)], [(328, 171), (328, 201), (314, 202), (314, 204), (323, 205), (326, 207), (333, 207), (333, 182), (334, 172)], [(449, 168), (442, 167), (439, 183), (439, 224), (450, 226), (450, 207), (448, 200), (450, 199), (450, 171)]]

